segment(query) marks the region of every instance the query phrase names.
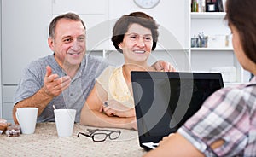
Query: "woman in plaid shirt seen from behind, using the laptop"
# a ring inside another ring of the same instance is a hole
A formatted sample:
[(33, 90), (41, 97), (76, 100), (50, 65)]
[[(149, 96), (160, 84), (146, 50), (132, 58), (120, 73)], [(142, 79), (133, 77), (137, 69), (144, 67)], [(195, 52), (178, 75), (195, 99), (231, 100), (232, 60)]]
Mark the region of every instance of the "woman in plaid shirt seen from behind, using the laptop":
[[(227, 0), (232, 43), (241, 66), (256, 74), (256, 1)], [(177, 133), (146, 156), (255, 156), (256, 78), (216, 91)]]

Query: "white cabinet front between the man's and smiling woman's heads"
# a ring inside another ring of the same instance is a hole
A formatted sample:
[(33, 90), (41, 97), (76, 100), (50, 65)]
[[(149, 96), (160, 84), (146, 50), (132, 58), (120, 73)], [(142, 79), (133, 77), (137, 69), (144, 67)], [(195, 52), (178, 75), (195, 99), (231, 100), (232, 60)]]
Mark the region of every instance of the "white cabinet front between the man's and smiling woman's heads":
[(53, 17), (74, 12), (84, 20), (87, 49), (109, 48), (108, 0), (53, 0), (52, 6)]

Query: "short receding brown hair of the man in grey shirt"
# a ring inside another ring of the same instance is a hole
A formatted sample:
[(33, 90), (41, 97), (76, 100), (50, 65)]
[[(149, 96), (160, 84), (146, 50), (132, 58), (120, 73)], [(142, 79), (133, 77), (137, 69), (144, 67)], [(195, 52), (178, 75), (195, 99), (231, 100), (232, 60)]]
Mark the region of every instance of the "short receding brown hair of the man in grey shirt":
[(79, 15), (76, 15), (74, 13), (66, 13), (63, 15), (58, 15), (53, 20), (51, 20), (51, 22), (49, 24), (49, 37), (50, 38), (55, 38), (55, 27), (57, 25), (57, 22), (61, 19), (80, 21), (82, 23), (82, 25), (84, 26), (84, 30), (86, 30), (84, 21), (79, 17)]

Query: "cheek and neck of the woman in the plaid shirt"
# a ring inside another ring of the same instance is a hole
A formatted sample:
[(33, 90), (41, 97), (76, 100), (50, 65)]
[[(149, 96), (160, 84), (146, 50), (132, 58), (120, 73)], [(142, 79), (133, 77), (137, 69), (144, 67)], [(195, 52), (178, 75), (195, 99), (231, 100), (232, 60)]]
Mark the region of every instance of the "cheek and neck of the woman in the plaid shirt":
[(237, 60), (241, 64), (241, 67), (253, 73), (253, 68), (255, 68), (255, 64), (247, 57), (247, 55), (245, 55), (245, 52), (242, 49), (241, 39), (236, 26), (230, 24), (230, 30), (233, 35), (232, 44)]

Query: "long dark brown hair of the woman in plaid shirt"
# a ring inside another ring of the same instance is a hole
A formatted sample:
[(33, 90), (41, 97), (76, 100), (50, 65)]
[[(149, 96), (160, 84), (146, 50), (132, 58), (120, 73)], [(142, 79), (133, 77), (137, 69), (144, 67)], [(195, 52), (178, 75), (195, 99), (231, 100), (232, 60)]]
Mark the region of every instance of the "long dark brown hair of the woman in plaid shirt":
[(235, 26), (241, 40), (241, 47), (247, 57), (256, 63), (256, 1), (228, 0), (226, 16), (229, 24)]

